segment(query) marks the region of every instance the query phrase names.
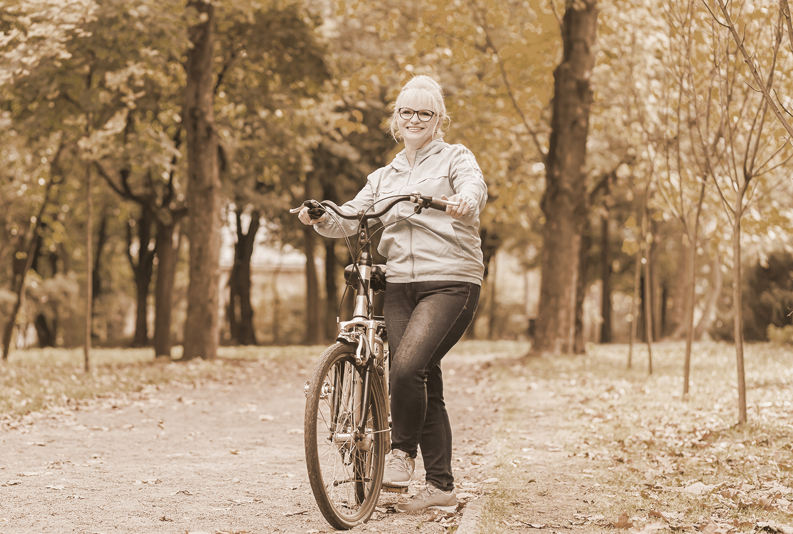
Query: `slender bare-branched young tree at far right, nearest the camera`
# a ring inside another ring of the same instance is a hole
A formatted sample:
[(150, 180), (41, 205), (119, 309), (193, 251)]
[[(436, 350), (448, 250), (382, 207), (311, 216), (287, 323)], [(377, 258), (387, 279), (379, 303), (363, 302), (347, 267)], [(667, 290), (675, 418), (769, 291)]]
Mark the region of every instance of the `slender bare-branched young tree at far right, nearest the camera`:
[[(750, 204), (762, 199), (764, 193), (776, 189), (783, 182), (787, 183), (787, 177), (776, 177), (776, 173), (793, 158), (793, 151), (790, 150), (793, 146), (787, 143), (787, 147), (779, 147), (776, 139), (779, 138), (780, 130), (785, 130), (791, 135), (793, 130), (780, 116), (780, 110), (769, 94), (774, 86), (776, 62), (783, 35), (785, 18), (783, 9), (777, 11), (776, 23), (768, 24), (767, 17), (741, 21), (743, 33), (749, 42), (771, 45), (764, 51), (765, 53), (756, 51), (754, 59), (751, 59), (745, 49), (744, 40), (739, 39), (734, 27), (734, 12), (727, 10), (719, 0), (716, 1), (723, 17), (726, 17), (726, 23), (719, 21), (718, 17), (716, 21), (729, 30), (729, 35), (733, 37), (736, 45), (732, 48), (730, 36), (724, 35), (718, 26), (714, 27), (711, 39), (714, 44), (716, 90), (720, 97), (718, 113), (721, 117), (722, 129), (718, 143), (721, 147), (717, 144), (714, 153), (707, 153), (707, 158), (708, 166), (714, 170), (718, 169), (714, 172), (715, 186), (732, 229), (732, 307), (738, 385), (738, 423), (741, 424), (746, 422), (741, 295), (741, 232), (744, 226), (742, 219)], [(741, 13), (744, 9), (765, 10), (765, 13), (768, 13), (767, 8), (757, 6), (749, 8), (743, 4), (738, 4), (733, 9), (737, 10), (737, 13)], [(763, 11), (760, 13), (765, 15)], [(713, 16), (716, 17), (715, 14)], [(772, 15), (768, 17), (770, 16)], [(735, 56), (738, 51), (744, 56), (745, 64), (736, 61)], [(766, 70), (764, 79), (760, 76), (761, 69)], [(748, 87), (749, 82), (760, 85), (759, 97), (756, 90)], [(778, 122), (770, 120), (767, 122), (769, 109), (780, 117)], [(785, 148), (787, 150), (784, 150)]]

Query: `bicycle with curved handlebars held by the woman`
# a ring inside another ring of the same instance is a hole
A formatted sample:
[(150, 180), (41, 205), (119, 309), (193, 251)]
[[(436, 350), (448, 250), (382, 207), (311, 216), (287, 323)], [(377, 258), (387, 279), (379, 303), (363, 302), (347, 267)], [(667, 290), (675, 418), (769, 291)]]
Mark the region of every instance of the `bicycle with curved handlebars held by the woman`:
[(312, 219), (324, 213), (331, 218), (358, 219), (358, 254), (353, 254), (345, 238), (353, 257), (353, 263), (344, 269), (347, 286), (355, 288), (353, 317), (343, 322), (337, 318), (336, 342), (325, 349), (303, 386), (308, 479), (322, 515), (341, 530), (369, 521), (381, 490), (408, 490), (382, 484), (385, 455), (391, 446), (391, 355), (385, 348), (385, 318), (374, 315), (373, 306), (374, 294), (385, 291), (385, 265), (372, 264), (366, 222), (408, 200), (417, 204), (414, 214), (424, 208), (446, 211), (446, 206), (459, 205), (417, 192), (383, 200), (389, 202), (377, 212), (347, 214), (329, 200), (306, 200), (300, 208), (290, 210), (296, 213), (306, 206)]

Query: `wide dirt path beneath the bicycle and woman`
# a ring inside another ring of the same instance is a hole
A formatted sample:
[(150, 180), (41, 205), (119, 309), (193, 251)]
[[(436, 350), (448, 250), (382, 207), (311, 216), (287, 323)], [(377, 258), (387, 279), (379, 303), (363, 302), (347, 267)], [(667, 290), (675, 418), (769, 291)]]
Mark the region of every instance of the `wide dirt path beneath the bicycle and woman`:
[[(480, 370), (486, 359), (444, 360), (462, 501), (485, 489), (493, 457), (499, 402)], [(5, 425), (0, 533), (334, 532), (305, 472), (302, 383), (312, 364), (243, 363), (233, 383), (170, 384)], [(396, 500), (383, 494), (354, 532), (446, 532), (461, 515), (397, 514)]]

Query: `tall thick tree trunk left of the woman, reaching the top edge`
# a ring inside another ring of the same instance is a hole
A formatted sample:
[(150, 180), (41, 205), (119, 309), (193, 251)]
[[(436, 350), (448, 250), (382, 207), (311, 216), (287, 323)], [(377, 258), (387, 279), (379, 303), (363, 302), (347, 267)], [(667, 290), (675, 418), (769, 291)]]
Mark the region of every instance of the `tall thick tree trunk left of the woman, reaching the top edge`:
[(213, 3), (190, 0), (199, 13), (188, 33), (186, 98), (182, 115), (187, 140), (187, 210), (190, 284), (182, 360), (214, 358), (220, 343), (220, 175), (217, 166), (213, 85)]

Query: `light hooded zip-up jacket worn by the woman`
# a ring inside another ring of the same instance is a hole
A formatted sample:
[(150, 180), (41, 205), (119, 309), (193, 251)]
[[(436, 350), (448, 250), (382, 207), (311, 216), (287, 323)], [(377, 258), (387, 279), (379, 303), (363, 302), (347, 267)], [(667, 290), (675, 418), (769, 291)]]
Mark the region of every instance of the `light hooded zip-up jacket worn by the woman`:
[[(411, 216), (416, 204), (400, 202), (381, 216), (385, 230), (377, 251), (388, 258), (386, 279), (393, 283), (454, 280), (481, 285), (485, 266), (479, 214), (485, 208), (488, 189), (476, 158), (462, 145), (436, 139), (416, 152), (412, 169), (401, 151), (389, 165), (370, 174), (360, 193), (342, 208), (354, 213), (375, 204), (372, 211), (377, 211), (389, 196), (416, 191), (437, 198), (459, 194), (468, 203), (469, 212), (458, 219), (435, 209)], [(339, 220), (341, 227), (330, 216), (314, 227), (326, 237), (354, 235), (358, 222)]]

